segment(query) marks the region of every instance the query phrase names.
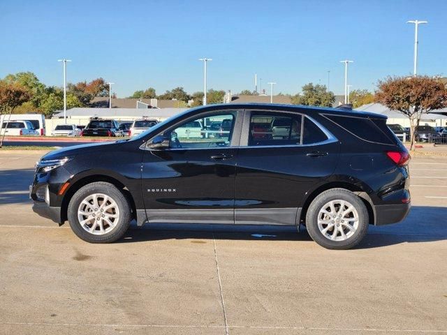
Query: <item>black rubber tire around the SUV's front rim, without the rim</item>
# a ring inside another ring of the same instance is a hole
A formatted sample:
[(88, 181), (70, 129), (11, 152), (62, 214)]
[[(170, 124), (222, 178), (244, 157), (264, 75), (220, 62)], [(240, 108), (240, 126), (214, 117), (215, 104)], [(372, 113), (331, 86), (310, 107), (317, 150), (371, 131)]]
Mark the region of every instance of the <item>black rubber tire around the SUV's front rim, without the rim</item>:
[[(114, 221), (115, 228), (110, 230), (110, 232), (105, 232), (101, 235), (87, 232), (87, 230), (82, 228), (78, 218), (78, 209), (82, 200), (87, 198), (89, 195), (94, 195), (95, 193), (108, 195), (108, 197), (115, 201), (119, 209), (119, 218), (117, 219), (117, 223)], [(131, 206), (124, 194), (119, 191), (115, 185), (104, 181), (98, 181), (82, 186), (73, 195), (73, 198), (71, 198), (70, 203), (68, 204), (67, 216), (73, 232), (78, 235), (80, 239), (83, 239), (89, 243), (111, 243), (117, 241), (117, 239), (120, 239), (126, 233), (132, 218)]]

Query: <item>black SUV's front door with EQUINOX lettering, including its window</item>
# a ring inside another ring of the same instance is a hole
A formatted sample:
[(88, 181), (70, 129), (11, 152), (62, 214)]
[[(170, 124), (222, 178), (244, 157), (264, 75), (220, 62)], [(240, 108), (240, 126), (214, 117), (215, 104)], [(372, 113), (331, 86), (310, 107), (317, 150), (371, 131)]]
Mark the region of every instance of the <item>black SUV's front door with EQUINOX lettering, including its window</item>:
[[(207, 130), (212, 121), (233, 120), (226, 137)], [(208, 112), (189, 117), (163, 131), (166, 149), (145, 147), (142, 196), (148, 222), (234, 223), (234, 181), (240, 113)], [(201, 137), (191, 137), (186, 125), (204, 125)]]

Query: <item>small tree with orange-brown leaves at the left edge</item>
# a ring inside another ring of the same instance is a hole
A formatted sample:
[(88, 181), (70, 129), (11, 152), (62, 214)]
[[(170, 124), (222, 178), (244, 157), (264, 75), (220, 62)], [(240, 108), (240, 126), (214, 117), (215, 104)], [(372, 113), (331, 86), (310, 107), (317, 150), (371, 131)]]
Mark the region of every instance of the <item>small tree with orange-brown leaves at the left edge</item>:
[[(6, 82), (0, 81), (0, 116), (1, 114), (13, 114), (15, 107), (22, 105), (29, 101), (32, 97), (31, 92), (27, 87), (17, 82)], [(8, 119), (9, 121), (9, 119)], [(1, 131), (2, 128), (0, 128)], [(3, 146), (3, 138), (5, 137), (5, 132), (3, 137), (1, 137), (0, 148)]]

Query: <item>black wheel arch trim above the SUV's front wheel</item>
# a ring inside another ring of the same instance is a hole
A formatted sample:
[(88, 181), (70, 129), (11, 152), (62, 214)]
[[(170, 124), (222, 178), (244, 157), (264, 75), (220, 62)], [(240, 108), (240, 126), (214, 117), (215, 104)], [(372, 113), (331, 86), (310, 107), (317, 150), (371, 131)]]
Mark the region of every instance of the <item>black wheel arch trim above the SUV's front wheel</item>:
[(73, 198), (73, 195), (82, 186), (94, 183), (96, 181), (104, 181), (117, 187), (119, 191), (121, 191), (126, 197), (126, 199), (129, 201), (129, 204), (131, 205), (132, 209), (132, 216), (133, 218), (136, 218), (135, 200), (133, 199), (133, 196), (131, 195), (129, 189), (122, 183), (122, 181), (119, 181), (119, 179), (115, 177), (110, 177), (104, 174), (89, 174), (87, 176), (77, 179), (73, 184), (70, 184), (70, 187), (66, 191), (64, 198), (62, 199), (61, 202), (61, 224), (64, 224), (64, 222), (68, 220), (67, 218), (68, 204), (70, 203), (71, 198)]

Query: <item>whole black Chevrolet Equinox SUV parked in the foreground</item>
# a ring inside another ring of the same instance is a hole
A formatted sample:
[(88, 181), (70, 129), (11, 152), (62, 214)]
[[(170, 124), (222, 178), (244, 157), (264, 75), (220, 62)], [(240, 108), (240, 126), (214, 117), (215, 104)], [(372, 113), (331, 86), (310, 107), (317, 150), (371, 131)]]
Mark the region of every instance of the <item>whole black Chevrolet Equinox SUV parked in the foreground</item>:
[[(219, 137), (186, 124), (230, 122)], [(119, 159), (117, 159), (119, 157)], [(410, 208), (409, 154), (367, 112), (292, 105), (211, 105), (130, 140), (46, 154), (34, 211), (93, 243), (143, 223), (305, 225), (314, 241), (351, 248), (368, 225)]]

